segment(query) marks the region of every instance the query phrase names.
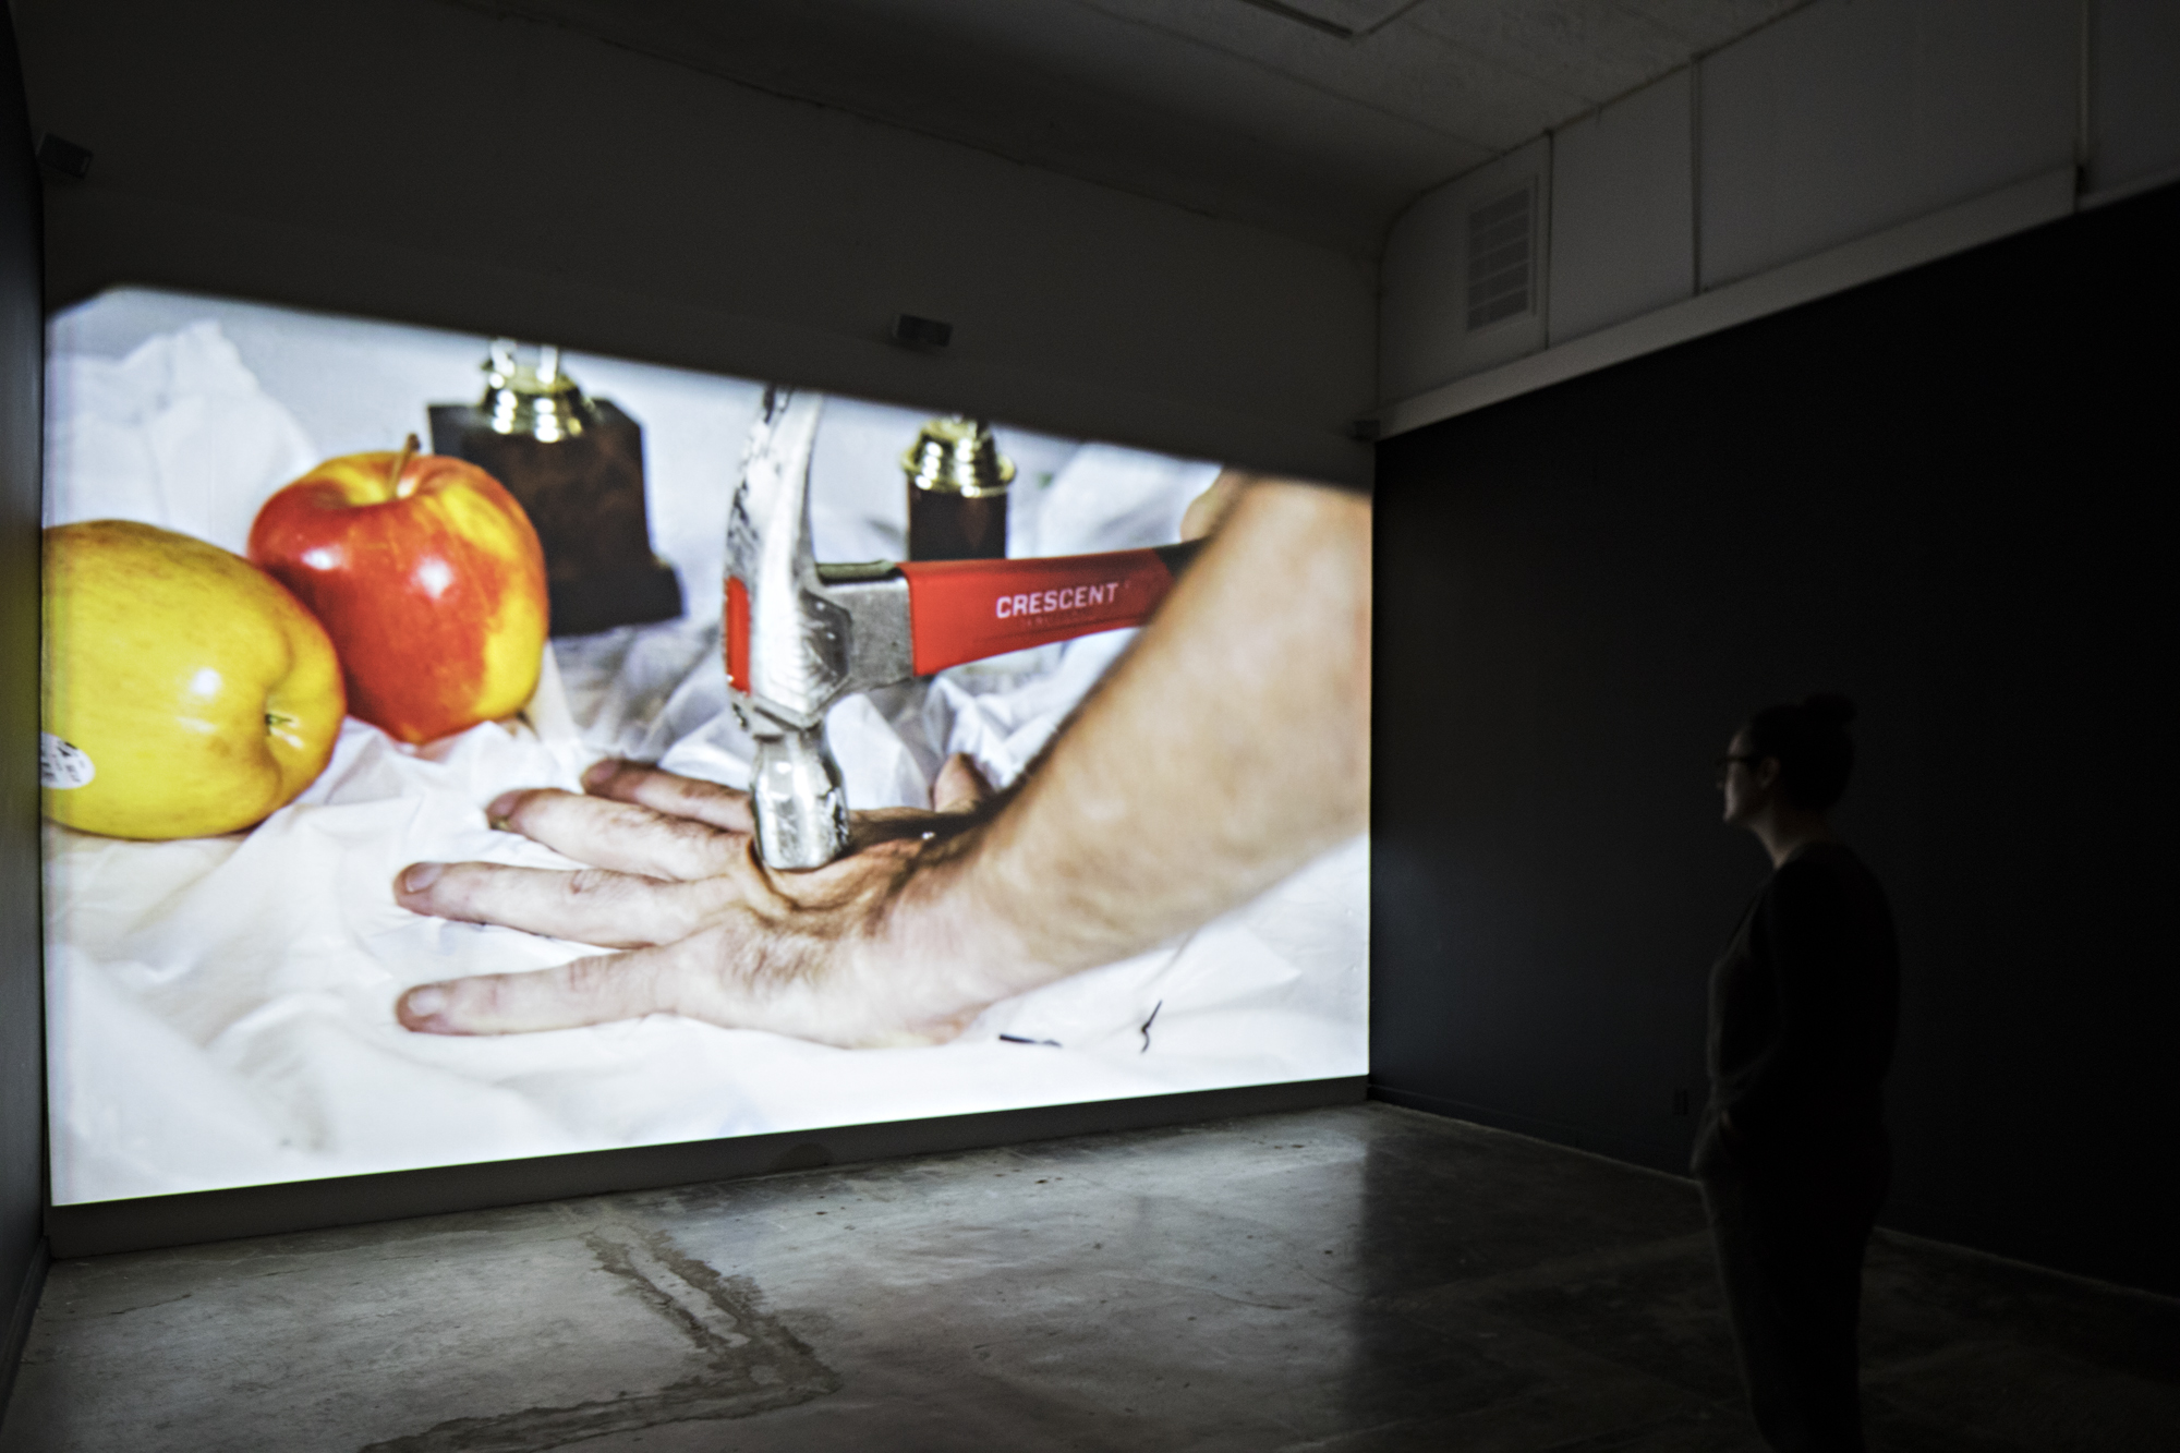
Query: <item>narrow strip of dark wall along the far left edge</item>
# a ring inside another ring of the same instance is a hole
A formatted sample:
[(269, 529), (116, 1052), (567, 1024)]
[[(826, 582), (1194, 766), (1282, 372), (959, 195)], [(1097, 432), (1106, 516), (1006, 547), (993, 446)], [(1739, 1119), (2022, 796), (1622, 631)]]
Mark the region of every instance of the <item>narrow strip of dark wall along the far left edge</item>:
[(37, 471), (46, 314), (15, 31), (0, 24), (0, 1405), (37, 1298), (46, 1010), (37, 892)]

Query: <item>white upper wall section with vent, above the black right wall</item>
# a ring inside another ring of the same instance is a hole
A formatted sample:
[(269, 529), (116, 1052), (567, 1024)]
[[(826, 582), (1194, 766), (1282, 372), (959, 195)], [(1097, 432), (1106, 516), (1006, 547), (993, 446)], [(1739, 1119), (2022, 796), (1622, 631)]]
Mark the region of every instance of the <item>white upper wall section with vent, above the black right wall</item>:
[(1393, 227), (1389, 430), (2051, 220), (2078, 164), (2084, 205), (2173, 179), (2180, 4), (1818, 0), (1563, 127), (1548, 155), (1546, 327), (1519, 360), (1467, 347), (1445, 290), (1472, 179)]

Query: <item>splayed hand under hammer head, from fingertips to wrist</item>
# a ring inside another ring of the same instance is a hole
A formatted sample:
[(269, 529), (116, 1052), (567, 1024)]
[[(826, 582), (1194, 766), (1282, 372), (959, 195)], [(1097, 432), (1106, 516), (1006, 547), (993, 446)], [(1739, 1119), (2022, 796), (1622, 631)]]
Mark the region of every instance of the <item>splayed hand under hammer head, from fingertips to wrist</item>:
[(652, 1012), (831, 1045), (940, 1043), (1012, 993), (1003, 925), (950, 879), (992, 788), (950, 757), (933, 812), (857, 814), (850, 851), (811, 873), (765, 868), (748, 794), (630, 761), (600, 761), (584, 792), (497, 798), (493, 827), (589, 864), (403, 868), (395, 901), (621, 953), (534, 973), (419, 984), (399, 1021), (425, 1034), (519, 1034)]

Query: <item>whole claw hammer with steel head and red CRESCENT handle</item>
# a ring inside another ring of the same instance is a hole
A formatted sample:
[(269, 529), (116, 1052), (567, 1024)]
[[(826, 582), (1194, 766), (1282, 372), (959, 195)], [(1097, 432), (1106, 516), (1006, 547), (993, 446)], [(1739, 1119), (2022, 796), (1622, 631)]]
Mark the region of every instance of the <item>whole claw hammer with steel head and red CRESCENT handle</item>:
[(750, 807), (772, 868), (822, 868), (848, 846), (848, 794), (824, 740), (841, 696), (1140, 626), (1197, 550), (820, 565), (809, 469), (822, 408), (822, 395), (765, 391), (726, 521), (726, 681), (756, 742)]

